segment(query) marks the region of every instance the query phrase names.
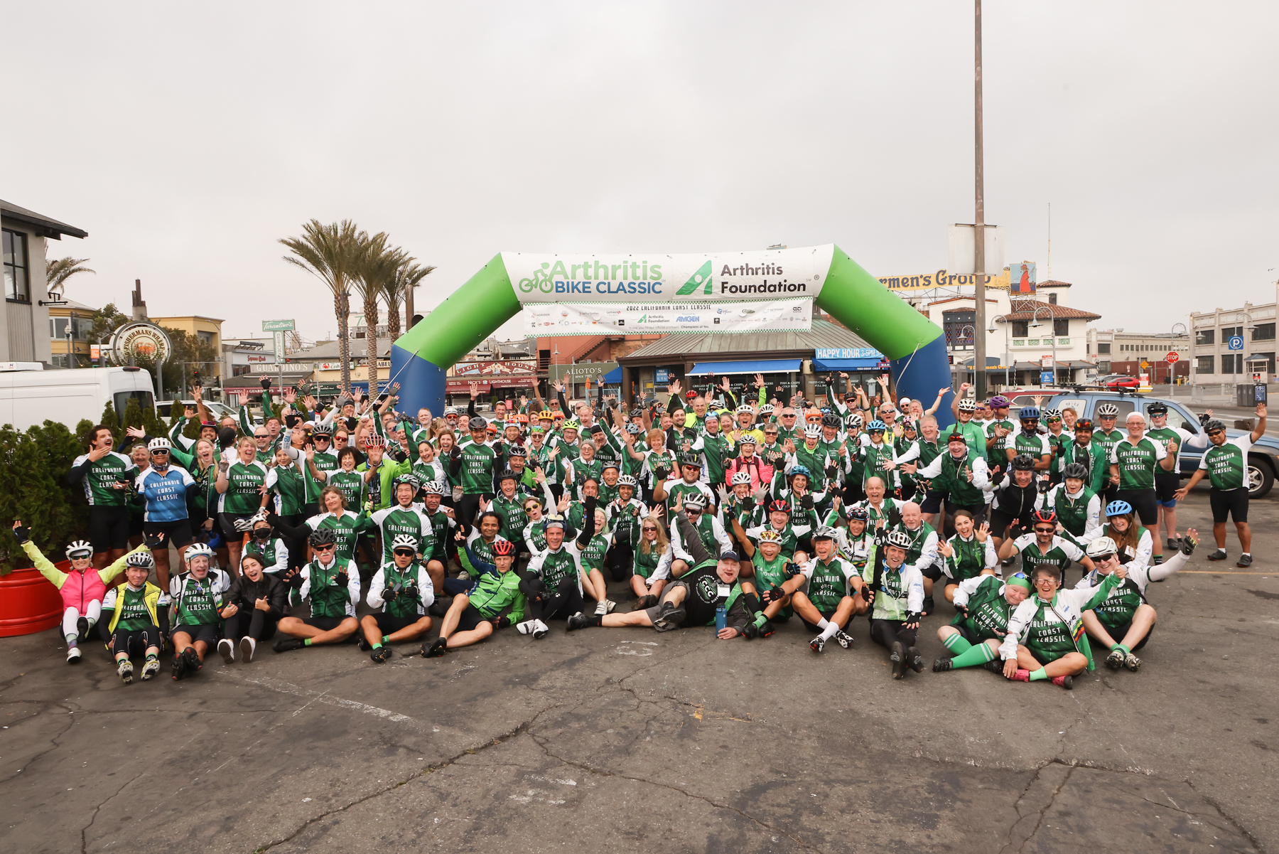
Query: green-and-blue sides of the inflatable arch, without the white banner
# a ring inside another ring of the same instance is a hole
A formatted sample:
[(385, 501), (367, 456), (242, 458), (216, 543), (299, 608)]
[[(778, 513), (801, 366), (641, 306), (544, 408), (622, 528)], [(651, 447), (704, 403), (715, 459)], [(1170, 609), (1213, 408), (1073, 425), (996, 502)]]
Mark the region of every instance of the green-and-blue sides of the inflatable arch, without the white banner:
[[(941, 329), (888, 291), (838, 246), (831, 247), (817, 305), (888, 356), (898, 393), (929, 405), (950, 387)], [(400, 384), (408, 412), (444, 410), (445, 371), (498, 326), (519, 312), (521, 302), (501, 255), (495, 255), (448, 300), (391, 346), (391, 376)], [(949, 421), (952, 394), (941, 402)]]

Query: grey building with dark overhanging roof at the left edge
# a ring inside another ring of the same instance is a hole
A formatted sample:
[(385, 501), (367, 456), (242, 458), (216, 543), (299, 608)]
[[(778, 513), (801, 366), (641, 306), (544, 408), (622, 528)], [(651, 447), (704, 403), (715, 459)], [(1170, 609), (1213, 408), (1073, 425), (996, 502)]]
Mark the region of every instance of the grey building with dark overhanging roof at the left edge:
[(49, 241), (60, 241), (64, 234), (84, 238), (88, 232), (6, 201), (0, 201), (0, 229), (5, 296), (5, 310), (0, 312), (0, 361), (42, 362), (52, 367), (52, 335), (47, 329), (49, 303), (54, 300), (47, 293), (45, 274)]

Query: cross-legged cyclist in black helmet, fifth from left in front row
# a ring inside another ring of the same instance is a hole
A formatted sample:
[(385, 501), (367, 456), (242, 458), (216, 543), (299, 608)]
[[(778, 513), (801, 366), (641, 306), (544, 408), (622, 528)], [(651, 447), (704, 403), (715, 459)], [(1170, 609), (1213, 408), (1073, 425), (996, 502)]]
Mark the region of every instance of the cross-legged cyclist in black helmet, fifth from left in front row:
[[(341, 493), (333, 490), (325, 494), (340, 497)], [(280, 620), (276, 630), (289, 636), (275, 643), (278, 653), (345, 643), (359, 630), (356, 621), (359, 572), (349, 558), (338, 557), (338, 535), (334, 529), (317, 528), (308, 542), (315, 558), (301, 570), (289, 570), (284, 580), (293, 588), (295, 602), (311, 603), (311, 616), (288, 616)]]

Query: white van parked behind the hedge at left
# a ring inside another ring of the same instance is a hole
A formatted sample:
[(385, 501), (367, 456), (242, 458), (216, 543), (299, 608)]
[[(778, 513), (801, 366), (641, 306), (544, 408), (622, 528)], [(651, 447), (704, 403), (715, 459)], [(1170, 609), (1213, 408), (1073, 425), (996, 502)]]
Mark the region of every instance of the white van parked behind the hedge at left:
[(141, 367), (42, 370), (40, 362), (0, 362), (0, 424), (17, 430), (61, 421), (74, 431), (81, 419), (97, 424), (107, 403), (124, 414), (129, 398), (155, 410), (151, 374)]

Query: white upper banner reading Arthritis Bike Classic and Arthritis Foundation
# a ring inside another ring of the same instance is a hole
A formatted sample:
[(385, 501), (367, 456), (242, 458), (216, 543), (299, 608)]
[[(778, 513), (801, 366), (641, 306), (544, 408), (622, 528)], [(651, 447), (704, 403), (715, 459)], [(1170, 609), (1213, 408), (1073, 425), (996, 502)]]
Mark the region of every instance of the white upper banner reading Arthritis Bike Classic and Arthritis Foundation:
[(703, 302), (816, 298), (834, 245), (698, 255), (503, 252), (515, 297), (531, 302)]

